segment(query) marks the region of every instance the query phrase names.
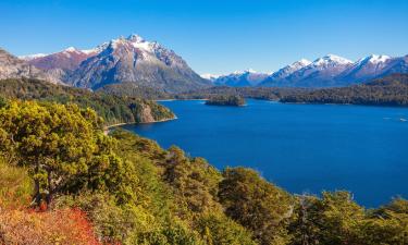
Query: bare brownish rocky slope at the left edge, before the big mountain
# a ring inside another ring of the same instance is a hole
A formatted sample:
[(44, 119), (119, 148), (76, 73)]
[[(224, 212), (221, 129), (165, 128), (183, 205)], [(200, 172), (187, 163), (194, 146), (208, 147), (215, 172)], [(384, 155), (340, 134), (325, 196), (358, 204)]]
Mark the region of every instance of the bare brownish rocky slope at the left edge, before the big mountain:
[(42, 72), (0, 48), (0, 79), (22, 77), (46, 79), (53, 84), (61, 83), (51, 74)]

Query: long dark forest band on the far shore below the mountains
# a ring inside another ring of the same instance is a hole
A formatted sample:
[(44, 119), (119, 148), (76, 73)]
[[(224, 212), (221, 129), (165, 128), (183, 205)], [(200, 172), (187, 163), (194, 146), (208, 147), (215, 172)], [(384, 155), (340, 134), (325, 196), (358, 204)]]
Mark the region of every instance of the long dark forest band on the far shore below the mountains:
[(336, 88), (227, 87), (213, 86), (182, 94), (168, 94), (131, 83), (110, 85), (100, 90), (121, 97), (147, 99), (210, 99), (220, 96), (306, 103), (355, 103), (407, 106), (408, 74), (392, 74), (364, 84)]

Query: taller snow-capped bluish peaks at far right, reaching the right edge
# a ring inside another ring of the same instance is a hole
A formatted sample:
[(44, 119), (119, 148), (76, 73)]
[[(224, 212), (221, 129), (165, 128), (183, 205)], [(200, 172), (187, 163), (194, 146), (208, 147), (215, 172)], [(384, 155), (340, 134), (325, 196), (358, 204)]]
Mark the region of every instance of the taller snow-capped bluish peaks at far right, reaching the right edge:
[[(295, 62), (300, 63), (300, 62)], [(364, 83), (392, 73), (408, 73), (408, 56), (391, 58), (371, 54), (356, 62), (327, 54), (313, 62), (301, 62), (295, 71), (288, 66), (273, 73), (260, 86), (332, 87)], [(287, 71), (287, 72), (286, 72)]]

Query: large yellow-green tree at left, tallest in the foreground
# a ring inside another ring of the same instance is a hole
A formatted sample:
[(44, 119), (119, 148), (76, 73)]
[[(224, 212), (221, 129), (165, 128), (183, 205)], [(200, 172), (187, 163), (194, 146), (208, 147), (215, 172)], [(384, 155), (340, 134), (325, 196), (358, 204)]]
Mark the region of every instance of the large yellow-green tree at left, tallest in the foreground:
[(123, 186), (133, 184), (126, 175), (132, 171), (113, 154), (114, 140), (103, 135), (101, 125), (95, 111), (76, 105), (12, 101), (0, 109), (1, 145), (28, 167), (35, 182), (33, 204), (49, 205), (53, 194), (84, 187), (133, 198)]

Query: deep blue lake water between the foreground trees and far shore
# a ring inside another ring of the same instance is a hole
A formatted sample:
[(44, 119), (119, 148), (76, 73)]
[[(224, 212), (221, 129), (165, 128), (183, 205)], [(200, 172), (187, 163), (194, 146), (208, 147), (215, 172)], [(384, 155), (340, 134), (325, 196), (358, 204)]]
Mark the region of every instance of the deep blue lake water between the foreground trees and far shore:
[(348, 189), (366, 207), (408, 197), (408, 109), (163, 101), (177, 120), (127, 130), (219, 169), (245, 166), (292, 193)]

